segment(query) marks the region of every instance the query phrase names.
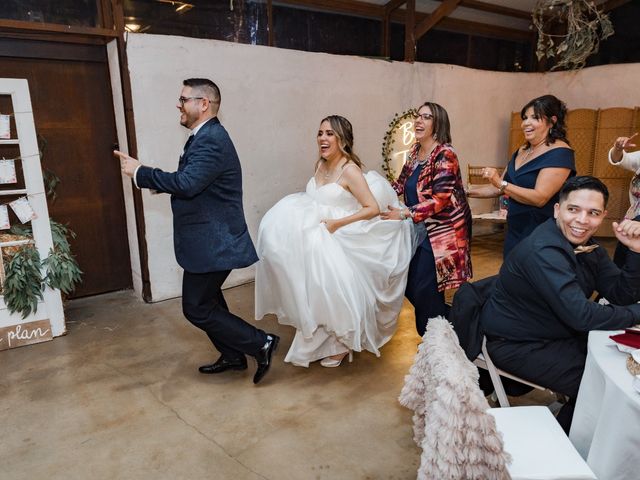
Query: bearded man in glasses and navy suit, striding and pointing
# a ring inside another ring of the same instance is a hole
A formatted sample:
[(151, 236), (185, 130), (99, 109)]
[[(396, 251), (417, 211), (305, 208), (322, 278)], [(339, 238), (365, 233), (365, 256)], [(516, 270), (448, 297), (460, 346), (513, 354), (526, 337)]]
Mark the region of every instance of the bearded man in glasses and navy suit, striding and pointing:
[(258, 257), (242, 208), (240, 161), (217, 118), (220, 90), (208, 79), (185, 80), (177, 107), (180, 124), (191, 130), (178, 171), (164, 172), (122, 152), (114, 154), (138, 188), (171, 194), (174, 249), (184, 269), (182, 310), (220, 352), (200, 372), (245, 370), (245, 355), (250, 355), (258, 363), (253, 377), (258, 383), (280, 339), (230, 313), (221, 290), (232, 269), (247, 267)]

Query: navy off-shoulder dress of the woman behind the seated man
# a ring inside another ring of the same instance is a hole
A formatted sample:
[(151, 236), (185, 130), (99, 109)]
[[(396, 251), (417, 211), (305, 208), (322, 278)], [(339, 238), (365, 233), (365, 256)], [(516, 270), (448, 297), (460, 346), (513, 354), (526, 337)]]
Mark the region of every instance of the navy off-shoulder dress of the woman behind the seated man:
[[(543, 168), (568, 168), (573, 177), (576, 174), (576, 162), (573, 150), (567, 147), (559, 147), (549, 150), (530, 162), (525, 163), (516, 170), (516, 151), (507, 165), (504, 179), (518, 187), (535, 188), (538, 174)], [(525, 205), (517, 200), (509, 199), (509, 212), (507, 214), (507, 235), (504, 239), (503, 256), (507, 255), (520, 240), (528, 237), (531, 232), (547, 219), (553, 218), (553, 206), (558, 201), (556, 193), (542, 207)]]

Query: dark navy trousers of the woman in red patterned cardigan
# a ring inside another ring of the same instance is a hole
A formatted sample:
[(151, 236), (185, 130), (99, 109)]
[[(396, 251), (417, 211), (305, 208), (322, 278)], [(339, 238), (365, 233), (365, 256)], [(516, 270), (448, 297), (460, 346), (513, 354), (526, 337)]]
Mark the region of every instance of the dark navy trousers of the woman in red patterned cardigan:
[(448, 314), (444, 292), (438, 291), (436, 260), (428, 238), (418, 246), (411, 259), (404, 294), (415, 309), (416, 330), (420, 336), (427, 329), (427, 320)]

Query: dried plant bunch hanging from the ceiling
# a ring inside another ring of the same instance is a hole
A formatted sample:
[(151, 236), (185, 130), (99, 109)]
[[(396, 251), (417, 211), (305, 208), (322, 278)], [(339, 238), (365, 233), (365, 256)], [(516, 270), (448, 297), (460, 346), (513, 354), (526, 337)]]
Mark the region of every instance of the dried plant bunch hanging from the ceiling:
[[(551, 70), (584, 67), (587, 58), (598, 51), (600, 41), (613, 35), (609, 16), (588, 0), (538, 0), (533, 24), (538, 30), (538, 60), (556, 59)], [(564, 33), (554, 33), (556, 27)]]

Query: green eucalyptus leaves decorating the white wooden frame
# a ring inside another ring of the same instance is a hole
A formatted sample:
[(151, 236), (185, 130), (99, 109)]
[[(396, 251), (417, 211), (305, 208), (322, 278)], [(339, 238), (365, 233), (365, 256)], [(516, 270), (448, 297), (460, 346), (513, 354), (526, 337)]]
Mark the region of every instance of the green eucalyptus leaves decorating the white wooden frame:
[[(18, 249), (5, 266), (4, 301), (10, 312), (19, 312), (22, 318), (36, 311), (45, 286), (60, 289), (68, 295), (82, 279), (82, 271), (71, 254), (68, 240), (75, 238), (75, 233), (53, 220), (50, 223), (53, 248), (47, 258), (41, 261), (38, 250), (29, 244)], [(14, 226), (11, 231), (16, 235), (32, 236), (30, 225)]]

